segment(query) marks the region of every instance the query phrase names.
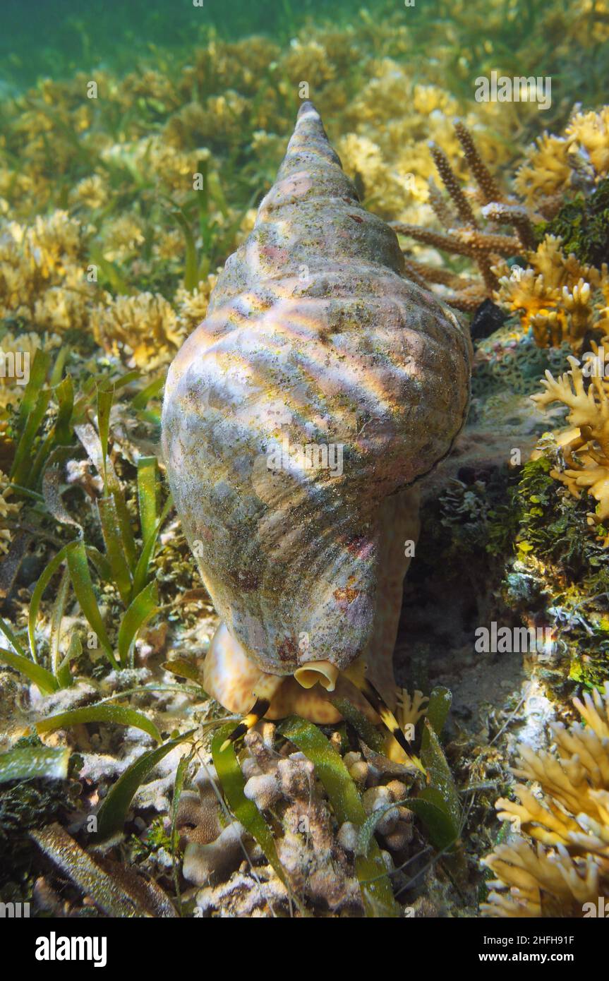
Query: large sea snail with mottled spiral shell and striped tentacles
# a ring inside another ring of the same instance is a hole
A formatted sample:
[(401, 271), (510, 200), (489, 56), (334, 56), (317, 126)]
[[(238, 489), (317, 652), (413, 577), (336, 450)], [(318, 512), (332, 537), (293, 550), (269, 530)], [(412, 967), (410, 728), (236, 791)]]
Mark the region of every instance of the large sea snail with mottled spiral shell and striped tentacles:
[(237, 736), (265, 714), (334, 722), (332, 692), (394, 723), (413, 485), (464, 425), (471, 371), (467, 331), (403, 268), (304, 102), (163, 405), (170, 487), (222, 620), (203, 683), (246, 716)]

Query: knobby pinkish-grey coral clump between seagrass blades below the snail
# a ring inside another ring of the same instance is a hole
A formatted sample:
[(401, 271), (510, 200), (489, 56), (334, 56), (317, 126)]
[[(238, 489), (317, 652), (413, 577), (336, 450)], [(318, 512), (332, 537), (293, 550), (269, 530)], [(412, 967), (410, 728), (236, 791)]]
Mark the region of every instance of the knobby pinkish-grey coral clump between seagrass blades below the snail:
[[(244, 793), (261, 811), (273, 815), (277, 852), (289, 875), (290, 888), (317, 915), (360, 914), (361, 898), (354, 875), (355, 827), (348, 822), (336, 826), (313, 763), (301, 752), (286, 754), (288, 747), (278, 752), (275, 726), (269, 722), (261, 723), (261, 726), (261, 733), (250, 732), (244, 740), (241, 758), (246, 780)], [(380, 771), (364, 761), (360, 752), (347, 752), (343, 758), (352, 774), (358, 762), (366, 769), (368, 789), (362, 800), (367, 812), (389, 807), (376, 828), (382, 847), (387, 852), (404, 852), (413, 838), (413, 815), (397, 802), (408, 796), (407, 786), (396, 779), (380, 784)], [(210, 767), (210, 771), (213, 768)], [(194, 825), (192, 830), (182, 830), (188, 840), (184, 859), (186, 854), (189, 856), (184, 875), (189, 881), (205, 886), (196, 897), (205, 914), (219, 908), (229, 909), (232, 914), (236, 909), (255, 908), (256, 915), (268, 916), (272, 915), (271, 906), (286, 909), (285, 887), (246, 834), (243, 834), (238, 851), (236, 845), (230, 847), (231, 859), (222, 870), (215, 864), (221, 838), (224, 842), (226, 835), (232, 843), (235, 834), (229, 830), (234, 824), (228, 824), (219, 832), (217, 801), (214, 805), (210, 799), (207, 813), (214, 815), (216, 825), (205, 835), (199, 830), (200, 801), (191, 794), (187, 794), (183, 805), (182, 800), (183, 794), (178, 808), (178, 826), (180, 822), (184, 823), (184, 816), (186, 824)], [(209, 817), (206, 820), (209, 823)], [(219, 833), (221, 837), (218, 837)], [(194, 840), (204, 844), (195, 849), (191, 845)], [(246, 855), (249, 870), (243, 863)], [(209, 862), (214, 864), (214, 869)], [(242, 864), (238, 871), (232, 871), (229, 866), (236, 869), (239, 862)]]

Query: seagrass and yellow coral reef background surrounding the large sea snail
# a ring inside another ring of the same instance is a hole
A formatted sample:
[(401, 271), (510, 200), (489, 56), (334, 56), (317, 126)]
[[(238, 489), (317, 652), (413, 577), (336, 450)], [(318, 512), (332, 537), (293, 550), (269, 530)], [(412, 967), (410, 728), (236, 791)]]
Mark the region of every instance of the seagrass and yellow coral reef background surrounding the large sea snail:
[[(1, 902), (609, 899), (607, 77), (606, 0), (4, 0)], [(160, 449), (169, 365), (305, 98), (473, 341), (404, 585), (412, 758), (344, 699), (335, 724), (263, 720), (224, 749), (238, 717), (202, 686), (219, 619)]]

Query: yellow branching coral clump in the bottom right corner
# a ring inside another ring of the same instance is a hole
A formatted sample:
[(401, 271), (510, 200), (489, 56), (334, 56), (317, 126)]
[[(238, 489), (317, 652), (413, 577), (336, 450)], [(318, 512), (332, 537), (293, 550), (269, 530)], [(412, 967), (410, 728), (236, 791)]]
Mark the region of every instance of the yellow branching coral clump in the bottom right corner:
[(609, 682), (573, 702), (582, 722), (550, 725), (556, 754), (520, 747), (513, 772), (540, 793), (517, 784), (520, 803), (496, 802), (520, 831), (483, 861), (496, 876), (485, 915), (583, 916), (609, 899)]

